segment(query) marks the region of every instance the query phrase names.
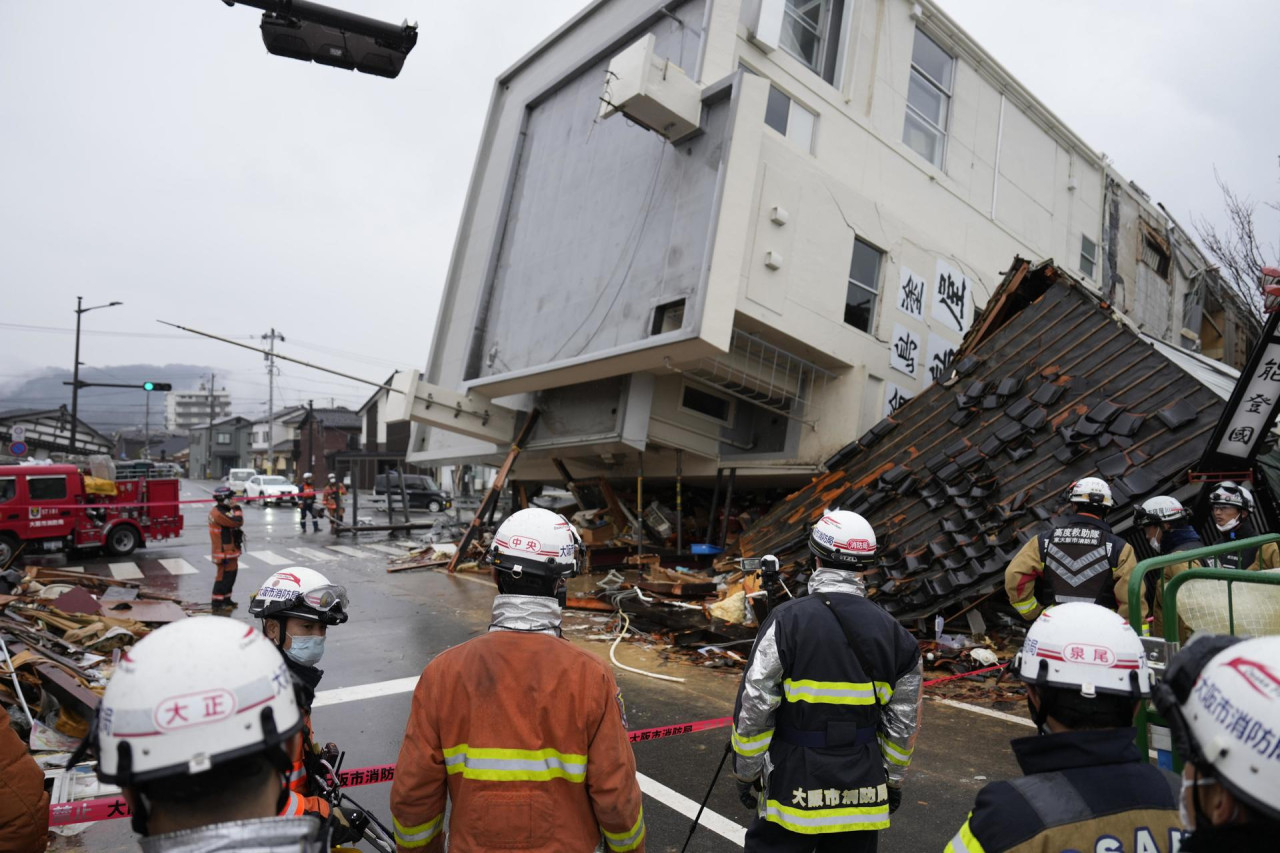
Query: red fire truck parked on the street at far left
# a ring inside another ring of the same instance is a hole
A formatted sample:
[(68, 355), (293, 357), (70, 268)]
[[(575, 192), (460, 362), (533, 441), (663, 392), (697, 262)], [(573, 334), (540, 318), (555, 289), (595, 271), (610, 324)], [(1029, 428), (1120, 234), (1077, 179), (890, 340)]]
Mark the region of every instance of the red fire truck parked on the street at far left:
[(90, 489), (74, 465), (0, 465), (0, 565), (24, 556), (104, 548), (132, 553), (182, 533), (178, 480), (99, 482)]

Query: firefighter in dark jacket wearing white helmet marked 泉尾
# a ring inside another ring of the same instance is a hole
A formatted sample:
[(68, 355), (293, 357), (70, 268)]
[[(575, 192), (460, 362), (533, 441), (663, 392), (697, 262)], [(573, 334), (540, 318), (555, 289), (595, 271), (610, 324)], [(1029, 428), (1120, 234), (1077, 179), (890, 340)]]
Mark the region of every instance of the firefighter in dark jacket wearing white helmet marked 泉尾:
[(1129, 624), (1098, 605), (1050, 607), (1014, 670), (1039, 727), (1011, 742), (1025, 775), (978, 792), (945, 853), (1178, 850), (1178, 781), (1133, 743), (1152, 674)]

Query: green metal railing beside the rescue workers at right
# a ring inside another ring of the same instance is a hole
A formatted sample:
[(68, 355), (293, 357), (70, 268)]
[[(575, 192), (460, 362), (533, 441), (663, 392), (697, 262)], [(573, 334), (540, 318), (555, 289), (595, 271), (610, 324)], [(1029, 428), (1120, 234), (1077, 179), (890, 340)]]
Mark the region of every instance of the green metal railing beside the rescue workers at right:
[[(1148, 571), (1164, 570), (1166, 566), (1172, 566), (1180, 562), (1204, 562), (1211, 557), (1220, 557), (1228, 553), (1236, 553), (1239, 551), (1247, 551), (1249, 548), (1261, 548), (1268, 542), (1280, 542), (1280, 534), (1268, 533), (1261, 537), (1251, 537), (1248, 539), (1239, 539), (1235, 542), (1222, 542), (1216, 546), (1208, 546), (1204, 548), (1194, 548), (1192, 551), (1178, 551), (1161, 557), (1152, 557), (1149, 560), (1143, 560), (1133, 570), (1133, 575), (1129, 578), (1129, 624), (1133, 625), (1134, 630), (1139, 635), (1143, 634), (1143, 620), (1142, 620), (1142, 602), (1143, 602), (1143, 579)], [(1226, 581), (1226, 611), (1228, 611), (1228, 625), (1230, 626), (1230, 633), (1235, 634), (1235, 598), (1234, 598), (1234, 585), (1238, 583), (1243, 584), (1280, 584), (1280, 574), (1263, 574), (1258, 571), (1247, 571), (1244, 569), (1190, 569), (1184, 571), (1165, 583), (1164, 594), (1161, 598), (1161, 605), (1164, 607), (1164, 637), (1143, 637), (1143, 647), (1147, 652), (1147, 662), (1156, 671), (1157, 678), (1164, 676), (1165, 667), (1169, 665), (1170, 658), (1179, 649), (1178, 638), (1178, 590), (1192, 580), (1224, 580)], [(1138, 708), (1138, 716), (1134, 720), (1134, 725), (1138, 727), (1138, 749), (1142, 754), (1147, 754), (1148, 751), (1148, 725), (1155, 726), (1167, 726), (1166, 721), (1149, 707), (1149, 702), (1143, 702)], [(1176, 754), (1174, 756), (1174, 770), (1181, 770), (1181, 758)]]

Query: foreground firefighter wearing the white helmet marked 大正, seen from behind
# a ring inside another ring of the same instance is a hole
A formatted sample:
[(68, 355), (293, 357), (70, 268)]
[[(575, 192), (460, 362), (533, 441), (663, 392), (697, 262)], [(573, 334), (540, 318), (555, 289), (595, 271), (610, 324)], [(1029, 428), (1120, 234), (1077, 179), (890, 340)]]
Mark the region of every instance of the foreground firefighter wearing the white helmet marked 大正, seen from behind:
[[(319, 852), (328, 833), (285, 785), (302, 730), (293, 681), (256, 629), (193, 616), (120, 657), (84, 748), (166, 850)], [(278, 817), (284, 812), (288, 817)]]

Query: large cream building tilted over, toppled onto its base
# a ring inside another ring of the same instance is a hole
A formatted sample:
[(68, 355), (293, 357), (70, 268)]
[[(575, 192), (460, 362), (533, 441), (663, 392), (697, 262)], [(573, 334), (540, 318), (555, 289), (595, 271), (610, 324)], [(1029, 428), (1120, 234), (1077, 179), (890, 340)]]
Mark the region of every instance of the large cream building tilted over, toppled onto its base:
[(598, 0), (495, 83), (425, 377), (541, 411), (521, 478), (799, 482), (948, 375), (1015, 255), (1231, 364), (1256, 329), (934, 3)]

